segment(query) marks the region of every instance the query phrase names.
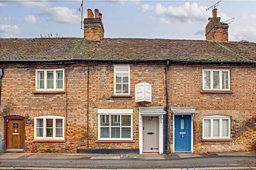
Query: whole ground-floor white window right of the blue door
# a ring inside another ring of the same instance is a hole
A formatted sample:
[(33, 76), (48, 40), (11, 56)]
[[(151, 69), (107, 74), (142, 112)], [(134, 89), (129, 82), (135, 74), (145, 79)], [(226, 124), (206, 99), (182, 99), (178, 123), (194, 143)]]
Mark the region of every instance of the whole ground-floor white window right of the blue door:
[(230, 117), (203, 117), (203, 139), (230, 139)]

